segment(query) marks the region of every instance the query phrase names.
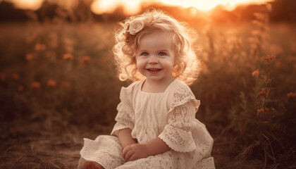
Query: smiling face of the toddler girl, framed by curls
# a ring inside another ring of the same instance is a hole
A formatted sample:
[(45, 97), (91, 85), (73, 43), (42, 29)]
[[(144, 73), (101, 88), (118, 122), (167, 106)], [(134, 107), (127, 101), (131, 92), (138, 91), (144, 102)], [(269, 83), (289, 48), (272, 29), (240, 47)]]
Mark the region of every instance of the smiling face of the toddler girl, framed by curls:
[(136, 52), (137, 70), (147, 80), (172, 80), (175, 50), (166, 32), (155, 32), (141, 37)]

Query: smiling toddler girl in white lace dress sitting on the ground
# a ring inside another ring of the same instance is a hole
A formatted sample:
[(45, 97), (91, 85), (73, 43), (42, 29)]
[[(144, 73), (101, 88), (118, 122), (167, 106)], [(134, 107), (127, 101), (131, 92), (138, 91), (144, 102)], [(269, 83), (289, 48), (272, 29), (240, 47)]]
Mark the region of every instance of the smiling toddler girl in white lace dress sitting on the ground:
[(121, 89), (110, 136), (84, 139), (78, 168), (215, 168), (213, 139), (195, 118), (192, 30), (161, 11), (121, 23), (113, 47)]

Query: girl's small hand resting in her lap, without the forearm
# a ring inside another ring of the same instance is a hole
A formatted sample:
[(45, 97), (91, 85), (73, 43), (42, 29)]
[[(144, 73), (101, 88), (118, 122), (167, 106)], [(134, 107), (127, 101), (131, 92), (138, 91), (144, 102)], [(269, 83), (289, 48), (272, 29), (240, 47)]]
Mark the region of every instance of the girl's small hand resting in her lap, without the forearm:
[(130, 144), (123, 149), (125, 161), (135, 161), (149, 156), (146, 144)]

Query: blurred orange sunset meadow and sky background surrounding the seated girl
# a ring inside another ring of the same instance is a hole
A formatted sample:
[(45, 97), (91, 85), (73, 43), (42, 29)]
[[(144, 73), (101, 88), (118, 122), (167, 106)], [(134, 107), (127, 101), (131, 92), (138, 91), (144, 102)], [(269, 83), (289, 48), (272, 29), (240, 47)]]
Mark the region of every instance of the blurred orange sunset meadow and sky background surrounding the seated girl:
[(122, 86), (118, 22), (149, 7), (187, 22), (191, 89), (216, 168), (296, 168), (296, 1), (0, 1), (0, 168), (76, 168), (109, 134)]

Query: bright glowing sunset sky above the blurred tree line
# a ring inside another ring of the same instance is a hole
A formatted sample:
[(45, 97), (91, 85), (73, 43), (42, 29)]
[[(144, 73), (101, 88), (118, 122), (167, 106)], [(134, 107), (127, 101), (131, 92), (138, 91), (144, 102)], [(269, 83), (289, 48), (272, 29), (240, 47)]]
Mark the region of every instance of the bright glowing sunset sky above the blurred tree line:
[[(2, 1), (2, 0), (0, 0)], [(36, 10), (38, 9), (44, 0), (11, 0), (16, 7)], [(63, 6), (75, 6), (77, 0), (50, 0), (57, 2)], [(90, 0), (87, 0), (90, 1)], [(195, 7), (202, 11), (211, 10), (217, 5), (223, 5), (227, 10), (232, 10), (235, 6), (240, 4), (264, 4), (267, 1), (272, 0), (94, 0), (91, 4), (92, 11), (94, 13), (112, 13), (117, 6), (123, 6), (125, 13), (137, 13), (140, 11), (141, 3), (160, 2), (168, 6), (183, 6), (183, 7)]]

